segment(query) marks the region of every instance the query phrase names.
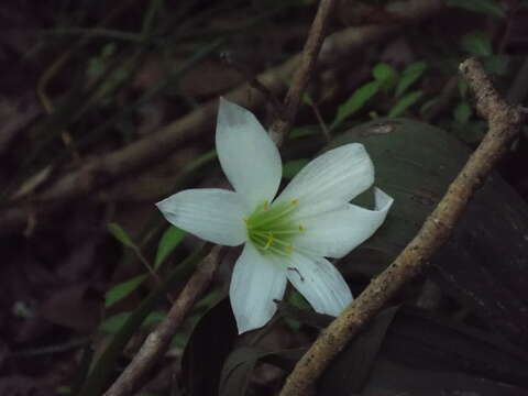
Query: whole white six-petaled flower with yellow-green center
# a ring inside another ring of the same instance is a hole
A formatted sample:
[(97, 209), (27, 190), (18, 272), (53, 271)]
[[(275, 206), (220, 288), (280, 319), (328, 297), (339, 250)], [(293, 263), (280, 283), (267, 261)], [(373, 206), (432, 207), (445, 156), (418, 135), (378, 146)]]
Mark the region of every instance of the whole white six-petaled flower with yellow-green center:
[(349, 204), (374, 182), (363, 145), (326, 152), (275, 198), (282, 178), (277, 147), (250, 111), (220, 99), (217, 151), (235, 191), (188, 189), (157, 207), (170, 223), (201, 239), (245, 243), (230, 286), (239, 333), (272, 318), (287, 279), (316, 311), (338, 316), (352, 294), (324, 257), (342, 257), (370, 238), (393, 204), (377, 188), (375, 210)]

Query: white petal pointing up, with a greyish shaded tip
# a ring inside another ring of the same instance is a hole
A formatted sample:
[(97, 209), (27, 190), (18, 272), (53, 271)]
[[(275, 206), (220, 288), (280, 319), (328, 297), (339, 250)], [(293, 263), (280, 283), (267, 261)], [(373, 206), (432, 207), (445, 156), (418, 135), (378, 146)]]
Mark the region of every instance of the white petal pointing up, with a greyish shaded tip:
[(275, 197), (283, 172), (275, 143), (253, 113), (223, 98), (218, 110), (217, 151), (229, 182), (252, 207)]

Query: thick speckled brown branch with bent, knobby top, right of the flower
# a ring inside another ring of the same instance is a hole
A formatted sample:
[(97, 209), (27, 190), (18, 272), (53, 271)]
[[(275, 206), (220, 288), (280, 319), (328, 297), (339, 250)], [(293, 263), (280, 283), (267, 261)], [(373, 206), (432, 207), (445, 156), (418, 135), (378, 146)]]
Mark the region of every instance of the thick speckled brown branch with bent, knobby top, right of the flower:
[(286, 380), (282, 396), (306, 395), (330, 361), (355, 337), (410, 279), (427, 266), (429, 258), (450, 237), (475, 190), (482, 185), (508, 143), (520, 129), (521, 112), (507, 105), (474, 59), (460, 72), (476, 98), (476, 109), (488, 122), (488, 131), (476, 151), (415, 239), (396, 260), (320, 334)]

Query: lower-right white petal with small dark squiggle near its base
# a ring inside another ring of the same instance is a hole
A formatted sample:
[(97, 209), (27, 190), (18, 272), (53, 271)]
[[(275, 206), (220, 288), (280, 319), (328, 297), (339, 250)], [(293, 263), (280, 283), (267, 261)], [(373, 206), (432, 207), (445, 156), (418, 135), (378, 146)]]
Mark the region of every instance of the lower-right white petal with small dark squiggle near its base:
[(328, 260), (294, 251), (288, 261), (289, 282), (317, 312), (338, 316), (352, 301), (349, 286)]

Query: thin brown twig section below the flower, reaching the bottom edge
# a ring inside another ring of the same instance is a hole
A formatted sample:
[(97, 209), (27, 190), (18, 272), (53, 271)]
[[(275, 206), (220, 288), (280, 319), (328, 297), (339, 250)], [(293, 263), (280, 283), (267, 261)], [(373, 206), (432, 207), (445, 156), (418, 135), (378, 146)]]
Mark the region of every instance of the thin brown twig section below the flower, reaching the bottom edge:
[(221, 246), (212, 248), (198, 265), (187, 285), (170, 308), (167, 317), (148, 334), (141, 349), (105, 396), (134, 395), (144, 384), (148, 371), (167, 351), (174, 334), (184, 321), (196, 299), (209, 286), (220, 262)]

